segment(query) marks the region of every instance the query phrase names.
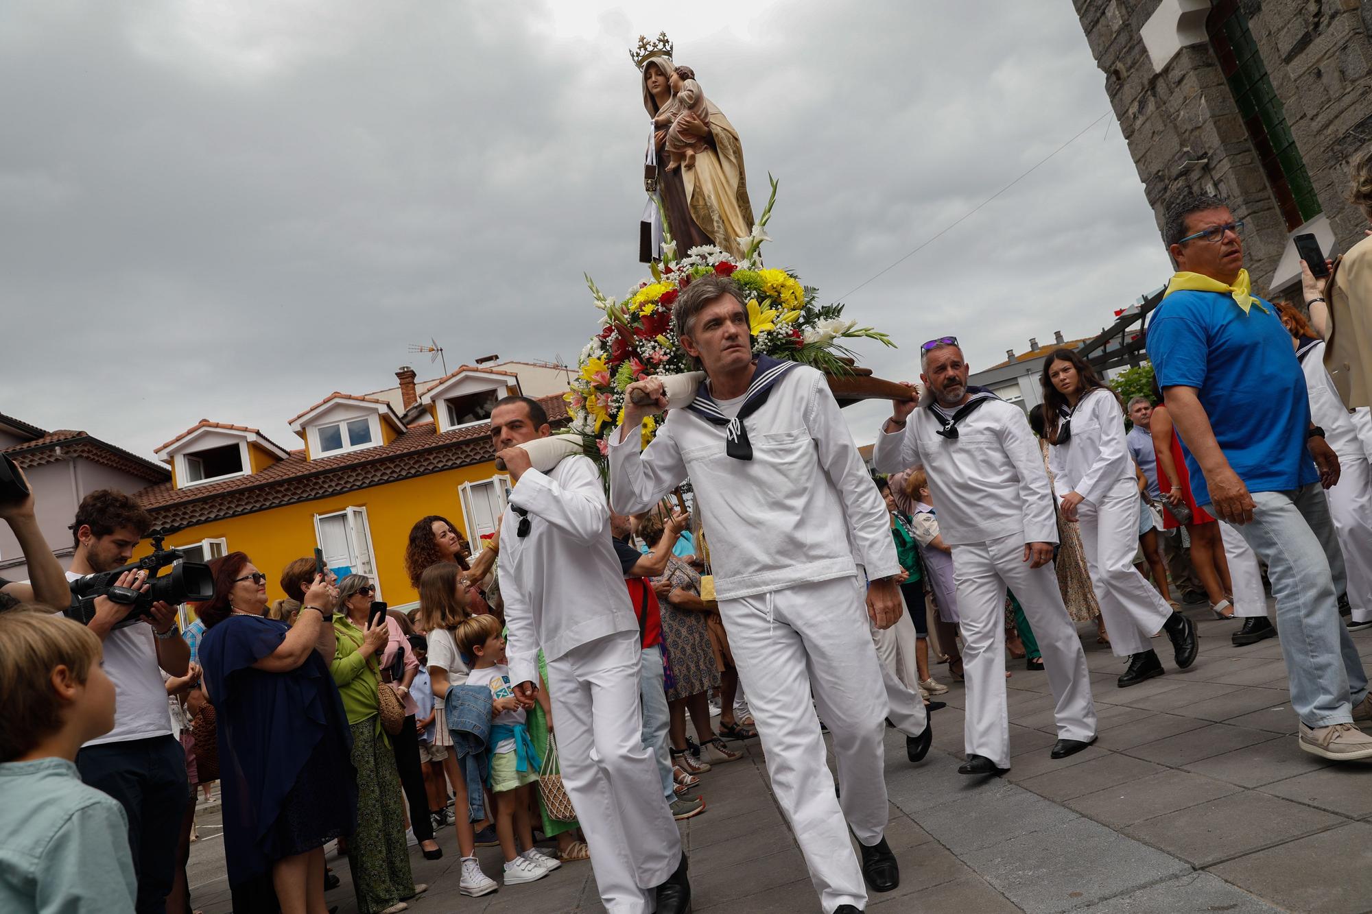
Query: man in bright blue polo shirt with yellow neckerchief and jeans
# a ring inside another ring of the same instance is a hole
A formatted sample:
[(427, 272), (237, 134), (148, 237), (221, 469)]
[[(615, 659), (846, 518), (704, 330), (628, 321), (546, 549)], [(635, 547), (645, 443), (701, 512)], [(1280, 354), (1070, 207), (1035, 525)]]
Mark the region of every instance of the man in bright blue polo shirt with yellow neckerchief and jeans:
[(1343, 554), (1327, 489), (1339, 461), (1310, 423), (1305, 376), (1277, 310), (1251, 294), (1229, 207), (1188, 196), (1163, 233), (1177, 273), (1148, 327), (1148, 355), (1177, 427), (1196, 504), (1233, 524), (1268, 564), (1299, 745), (1372, 758), (1372, 699), (1339, 620)]

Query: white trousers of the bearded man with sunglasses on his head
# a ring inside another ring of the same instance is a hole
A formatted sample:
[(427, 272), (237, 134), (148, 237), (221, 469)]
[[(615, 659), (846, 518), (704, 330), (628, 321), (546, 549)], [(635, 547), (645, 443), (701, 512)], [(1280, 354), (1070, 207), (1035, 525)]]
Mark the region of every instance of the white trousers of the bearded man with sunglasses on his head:
[[(1137, 515), (1133, 524), (1137, 532)], [(1010, 767), (1010, 716), (1006, 712), (1006, 587), (1024, 607), (1052, 689), (1058, 737), (1089, 740), (1096, 733), (1091, 672), (1077, 629), (1062, 602), (1058, 572), (1050, 561), (1030, 568), (1024, 534), (952, 548), (958, 612), (967, 679), (965, 745), (997, 767)]]

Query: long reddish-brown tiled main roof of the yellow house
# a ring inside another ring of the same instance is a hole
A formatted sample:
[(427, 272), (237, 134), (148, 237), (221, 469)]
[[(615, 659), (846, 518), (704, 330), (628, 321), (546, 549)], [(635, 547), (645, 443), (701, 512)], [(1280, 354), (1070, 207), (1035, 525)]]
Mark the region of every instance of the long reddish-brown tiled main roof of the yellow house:
[[(569, 419), (560, 395), (543, 397), (539, 402), (554, 425)], [(488, 423), (443, 434), (427, 423), (380, 447), (318, 460), (306, 460), (303, 450), (292, 450), (285, 460), (248, 476), (187, 489), (165, 482), (136, 493), (134, 498), (152, 512), (159, 526), (187, 527), (469, 467), (494, 457)]]

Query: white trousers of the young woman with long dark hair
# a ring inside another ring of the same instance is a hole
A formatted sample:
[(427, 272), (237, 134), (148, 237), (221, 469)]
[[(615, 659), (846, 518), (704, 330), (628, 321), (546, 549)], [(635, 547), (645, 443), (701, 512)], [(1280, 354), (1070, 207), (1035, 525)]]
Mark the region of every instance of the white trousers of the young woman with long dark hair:
[[(1091, 589), (1096, 593), (1106, 631), (1110, 633), (1110, 649), (1117, 657), (1150, 651), (1148, 642), (1162, 630), (1172, 607), (1133, 567), (1139, 552), (1136, 480), (1124, 476), (1100, 497), (1099, 504), (1084, 501), (1077, 505), (1077, 526), (1087, 553)], [(1032, 619), (1029, 624), (1033, 624)]]

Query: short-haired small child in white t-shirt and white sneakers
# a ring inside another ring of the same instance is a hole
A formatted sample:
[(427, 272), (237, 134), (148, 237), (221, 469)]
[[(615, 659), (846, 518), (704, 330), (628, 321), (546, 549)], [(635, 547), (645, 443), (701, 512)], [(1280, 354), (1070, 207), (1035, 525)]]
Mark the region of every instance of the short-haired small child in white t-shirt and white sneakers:
[[(480, 615), (465, 619), (453, 635), (471, 667), (466, 685), (484, 685), (491, 690), (487, 786), (495, 797), (495, 836), (505, 854), (505, 885), (519, 885), (541, 880), (563, 863), (534, 848), (530, 786), (538, 782), (541, 760), (524, 723), (524, 708), (510, 688), (501, 629), (498, 618)], [(523, 852), (516, 839), (524, 845)]]

